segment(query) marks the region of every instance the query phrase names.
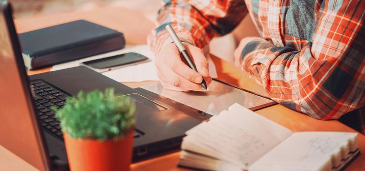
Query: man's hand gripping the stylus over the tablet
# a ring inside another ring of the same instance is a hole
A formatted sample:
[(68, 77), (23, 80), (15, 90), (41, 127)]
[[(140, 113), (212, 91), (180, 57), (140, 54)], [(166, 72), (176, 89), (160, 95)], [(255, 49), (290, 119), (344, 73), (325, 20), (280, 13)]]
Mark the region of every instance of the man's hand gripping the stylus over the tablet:
[(200, 85), (203, 78), (207, 86), (212, 82), (208, 71), (208, 61), (201, 49), (188, 43), (184, 43), (184, 46), (193, 58), (198, 72), (181, 60), (179, 50), (175, 44), (170, 43), (163, 46), (156, 56), (157, 76), (160, 78), (161, 84), (170, 90), (203, 90)]

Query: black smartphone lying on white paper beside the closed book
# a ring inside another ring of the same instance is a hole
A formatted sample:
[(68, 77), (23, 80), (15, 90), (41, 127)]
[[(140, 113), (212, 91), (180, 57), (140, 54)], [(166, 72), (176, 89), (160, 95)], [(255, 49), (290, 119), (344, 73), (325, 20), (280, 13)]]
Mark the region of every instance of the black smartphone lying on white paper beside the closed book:
[(148, 61), (150, 60), (144, 55), (129, 52), (121, 55), (87, 61), (81, 64), (94, 69), (97, 72), (105, 72), (125, 66), (145, 63)]

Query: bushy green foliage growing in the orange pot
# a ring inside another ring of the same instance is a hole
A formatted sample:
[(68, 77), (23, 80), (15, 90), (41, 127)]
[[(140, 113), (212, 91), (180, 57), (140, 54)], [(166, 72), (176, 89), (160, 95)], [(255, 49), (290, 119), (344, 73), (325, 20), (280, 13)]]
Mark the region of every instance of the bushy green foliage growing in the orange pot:
[(115, 95), (114, 88), (107, 88), (104, 93), (80, 91), (68, 98), (62, 108), (53, 110), (62, 130), (73, 138), (117, 139), (135, 124), (134, 102), (126, 96)]

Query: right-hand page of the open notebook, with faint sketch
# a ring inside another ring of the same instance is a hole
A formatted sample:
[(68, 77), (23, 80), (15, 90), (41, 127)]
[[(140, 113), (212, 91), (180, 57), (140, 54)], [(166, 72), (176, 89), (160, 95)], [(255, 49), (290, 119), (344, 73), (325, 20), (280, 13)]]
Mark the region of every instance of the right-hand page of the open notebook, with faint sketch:
[(318, 171), (346, 148), (357, 133), (295, 132), (256, 161), (249, 171)]

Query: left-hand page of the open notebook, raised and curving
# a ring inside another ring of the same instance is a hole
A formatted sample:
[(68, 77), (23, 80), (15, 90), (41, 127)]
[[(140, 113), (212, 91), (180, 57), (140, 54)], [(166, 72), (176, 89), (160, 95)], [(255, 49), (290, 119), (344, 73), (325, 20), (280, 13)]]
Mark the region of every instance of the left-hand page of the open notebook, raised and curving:
[(289, 137), (292, 131), (234, 104), (186, 134), (183, 150), (245, 168)]

